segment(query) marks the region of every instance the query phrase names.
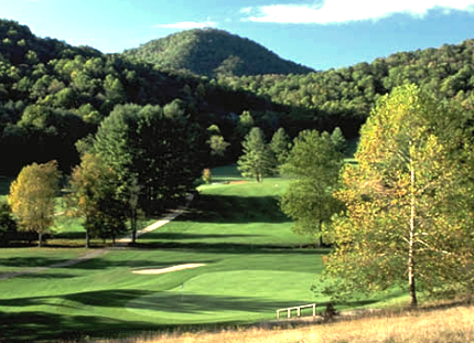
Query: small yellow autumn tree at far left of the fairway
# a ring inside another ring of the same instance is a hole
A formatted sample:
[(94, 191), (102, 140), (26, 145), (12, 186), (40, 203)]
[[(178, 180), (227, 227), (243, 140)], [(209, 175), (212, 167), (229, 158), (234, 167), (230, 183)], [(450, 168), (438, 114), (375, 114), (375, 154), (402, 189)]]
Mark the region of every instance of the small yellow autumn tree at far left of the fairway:
[(39, 247), (43, 234), (54, 224), (60, 176), (56, 161), (33, 163), (24, 167), (10, 186), (8, 202), (20, 221), (20, 229), (35, 232)]

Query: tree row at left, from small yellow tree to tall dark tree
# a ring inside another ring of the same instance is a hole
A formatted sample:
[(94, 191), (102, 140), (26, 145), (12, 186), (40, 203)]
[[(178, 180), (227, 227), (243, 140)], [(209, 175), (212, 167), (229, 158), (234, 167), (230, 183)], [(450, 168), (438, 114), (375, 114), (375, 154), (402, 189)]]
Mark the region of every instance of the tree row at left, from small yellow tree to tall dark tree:
[[(83, 219), (86, 247), (90, 237), (115, 242), (129, 229), (134, 243), (140, 212), (161, 213), (192, 192), (207, 153), (200, 150), (204, 133), (177, 103), (119, 105), (96, 135), (78, 141), (80, 163), (65, 185), (65, 211)], [(19, 228), (36, 233), (40, 246), (54, 222), (60, 175), (55, 161), (33, 163), (10, 187), (8, 201)], [(0, 227), (8, 232), (12, 217), (2, 208)]]

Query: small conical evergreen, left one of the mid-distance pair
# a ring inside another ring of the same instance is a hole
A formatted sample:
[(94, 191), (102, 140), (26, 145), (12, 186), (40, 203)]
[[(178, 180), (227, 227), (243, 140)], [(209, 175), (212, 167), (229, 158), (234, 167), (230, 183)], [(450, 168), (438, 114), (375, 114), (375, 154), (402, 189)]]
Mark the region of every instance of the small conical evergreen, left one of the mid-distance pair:
[(274, 161), (270, 149), (265, 142), (260, 128), (252, 128), (244, 142), (244, 154), (237, 161), (237, 169), (246, 178), (256, 178), (257, 182), (263, 181), (263, 176), (273, 174)]

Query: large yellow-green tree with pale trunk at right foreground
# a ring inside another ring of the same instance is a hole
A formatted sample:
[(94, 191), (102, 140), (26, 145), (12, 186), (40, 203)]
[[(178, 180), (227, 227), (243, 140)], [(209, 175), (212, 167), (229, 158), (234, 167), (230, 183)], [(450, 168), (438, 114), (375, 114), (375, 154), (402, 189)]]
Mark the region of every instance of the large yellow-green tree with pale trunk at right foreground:
[(419, 291), (472, 289), (471, 172), (459, 159), (472, 153), (449, 117), (413, 85), (378, 103), (362, 130), (358, 167), (346, 167), (336, 194), (347, 213), (334, 223), (326, 275), (338, 281), (328, 292), (398, 285), (416, 307)]

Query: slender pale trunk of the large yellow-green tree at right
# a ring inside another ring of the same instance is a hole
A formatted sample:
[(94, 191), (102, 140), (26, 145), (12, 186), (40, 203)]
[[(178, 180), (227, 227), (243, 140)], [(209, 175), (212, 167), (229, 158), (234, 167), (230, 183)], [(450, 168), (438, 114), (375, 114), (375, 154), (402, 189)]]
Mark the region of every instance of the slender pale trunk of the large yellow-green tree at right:
[(410, 307), (416, 308), (418, 306), (417, 300), (417, 287), (414, 283), (414, 169), (411, 160), (412, 142), (410, 141), (410, 239), (408, 246), (408, 290), (410, 291)]

